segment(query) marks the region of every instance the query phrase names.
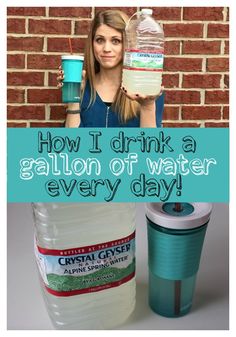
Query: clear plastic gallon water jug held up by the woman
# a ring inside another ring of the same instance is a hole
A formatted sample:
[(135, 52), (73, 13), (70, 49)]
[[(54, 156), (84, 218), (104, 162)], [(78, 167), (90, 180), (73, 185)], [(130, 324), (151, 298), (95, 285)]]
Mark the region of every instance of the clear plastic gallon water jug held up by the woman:
[(129, 93), (160, 92), (164, 60), (164, 33), (152, 18), (152, 9), (131, 16), (125, 30), (122, 86)]

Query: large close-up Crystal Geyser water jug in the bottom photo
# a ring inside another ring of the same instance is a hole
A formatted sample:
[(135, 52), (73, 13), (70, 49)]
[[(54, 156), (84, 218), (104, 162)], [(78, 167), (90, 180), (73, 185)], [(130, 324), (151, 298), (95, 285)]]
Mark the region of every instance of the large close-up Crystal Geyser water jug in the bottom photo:
[(135, 205), (33, 203), (42, 292), (57, 329), (111, 329), (135, 306)]

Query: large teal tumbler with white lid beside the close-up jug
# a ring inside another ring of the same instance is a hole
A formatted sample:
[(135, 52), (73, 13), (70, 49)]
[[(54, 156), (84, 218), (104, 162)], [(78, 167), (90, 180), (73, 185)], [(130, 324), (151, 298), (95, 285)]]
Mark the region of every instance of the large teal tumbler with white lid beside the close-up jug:
[(156, 313), (190, 311), (211, 211), (210, 203), (146, 204), (149, 305)]

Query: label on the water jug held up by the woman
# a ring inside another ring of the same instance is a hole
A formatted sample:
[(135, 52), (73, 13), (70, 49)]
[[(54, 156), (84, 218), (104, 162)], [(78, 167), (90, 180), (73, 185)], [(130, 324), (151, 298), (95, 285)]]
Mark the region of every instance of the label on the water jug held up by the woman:
[(126, 50), (124, 56), (124, 69), (162, 71), (163, 52)]

